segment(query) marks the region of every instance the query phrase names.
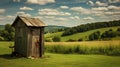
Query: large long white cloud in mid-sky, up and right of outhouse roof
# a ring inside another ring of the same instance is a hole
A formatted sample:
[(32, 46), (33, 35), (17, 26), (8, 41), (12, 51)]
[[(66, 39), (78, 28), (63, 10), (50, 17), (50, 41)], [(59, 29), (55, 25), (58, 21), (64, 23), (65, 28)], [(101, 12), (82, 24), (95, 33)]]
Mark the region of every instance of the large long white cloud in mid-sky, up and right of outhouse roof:
[(58, 11), (58, 10), (56, 10), (56, 9), (39, 9), (39, 12), (38, 12), (38, 14), (39, 15), (61, 15), (61, 16), (63, 16), (63, 15), (71, 15), (70, 13), (68, 13), (68, 12), (60, 12), (60, 11)]

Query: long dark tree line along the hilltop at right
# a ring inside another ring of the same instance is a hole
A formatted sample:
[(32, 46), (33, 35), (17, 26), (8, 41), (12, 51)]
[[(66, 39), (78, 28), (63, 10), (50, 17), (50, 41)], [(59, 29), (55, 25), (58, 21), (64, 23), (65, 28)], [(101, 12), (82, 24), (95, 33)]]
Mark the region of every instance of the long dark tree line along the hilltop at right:
[(80, 32), (86, 32), (89, 30), (94, 30), (99, 28), (113, 27), (113, 26), (120, 26), (120, 20), (82, 24), (65, 30), (62, 36), (72, 35)]

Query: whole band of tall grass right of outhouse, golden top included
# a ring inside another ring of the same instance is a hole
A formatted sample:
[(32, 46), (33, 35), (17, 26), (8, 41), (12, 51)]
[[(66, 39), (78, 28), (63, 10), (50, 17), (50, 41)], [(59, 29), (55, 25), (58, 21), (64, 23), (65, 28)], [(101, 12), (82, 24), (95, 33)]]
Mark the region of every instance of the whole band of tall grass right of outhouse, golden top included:
[(120, 41), (46, 43), (47, 52), (62, 54), (101, 54), (120, 56)]

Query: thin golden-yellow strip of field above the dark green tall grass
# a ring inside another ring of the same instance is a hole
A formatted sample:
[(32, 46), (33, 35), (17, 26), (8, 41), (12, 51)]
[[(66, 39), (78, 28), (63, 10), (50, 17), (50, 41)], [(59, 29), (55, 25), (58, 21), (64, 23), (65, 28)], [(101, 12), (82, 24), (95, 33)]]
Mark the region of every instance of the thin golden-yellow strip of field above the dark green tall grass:
[(120, 40), (110, 40), (110, 41), (82, 41), (82, 42), (45, 42), (45, 45), (66, 45), (66, 46), (107, 46), (107, 45), (120, 45)]

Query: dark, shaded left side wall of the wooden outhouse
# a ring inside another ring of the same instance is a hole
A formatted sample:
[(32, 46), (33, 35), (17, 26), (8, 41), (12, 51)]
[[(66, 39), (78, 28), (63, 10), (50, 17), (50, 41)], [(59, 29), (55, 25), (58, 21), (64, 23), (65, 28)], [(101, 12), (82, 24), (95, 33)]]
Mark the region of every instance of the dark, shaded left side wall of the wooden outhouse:
[(15, 25), (15, 52), (22, 56), (27, 56), (27, 35), (28, 27), (18, 20)]

